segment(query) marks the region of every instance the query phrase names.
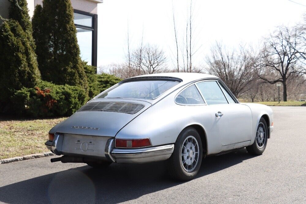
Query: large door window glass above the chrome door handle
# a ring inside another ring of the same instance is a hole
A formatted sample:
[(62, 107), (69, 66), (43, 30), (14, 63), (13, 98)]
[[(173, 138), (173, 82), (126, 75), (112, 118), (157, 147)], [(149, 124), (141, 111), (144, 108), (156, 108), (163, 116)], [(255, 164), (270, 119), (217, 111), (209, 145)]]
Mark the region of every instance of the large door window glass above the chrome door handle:
[(197, 83), (197, 85), (208, 105), (228, 104), (217, 81), (203, 81)]

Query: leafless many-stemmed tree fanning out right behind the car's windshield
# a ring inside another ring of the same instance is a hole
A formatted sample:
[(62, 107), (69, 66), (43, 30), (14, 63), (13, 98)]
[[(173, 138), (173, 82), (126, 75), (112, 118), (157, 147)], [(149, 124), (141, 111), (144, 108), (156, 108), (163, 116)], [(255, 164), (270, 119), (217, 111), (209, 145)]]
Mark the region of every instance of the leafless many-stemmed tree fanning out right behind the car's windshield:
[(221, 78), (237, 98), (256, 79), (254, 59), (242, 46), (239, 50), (227, 51), (221, 43), (216, 43), (206, 62), (208, 72)]

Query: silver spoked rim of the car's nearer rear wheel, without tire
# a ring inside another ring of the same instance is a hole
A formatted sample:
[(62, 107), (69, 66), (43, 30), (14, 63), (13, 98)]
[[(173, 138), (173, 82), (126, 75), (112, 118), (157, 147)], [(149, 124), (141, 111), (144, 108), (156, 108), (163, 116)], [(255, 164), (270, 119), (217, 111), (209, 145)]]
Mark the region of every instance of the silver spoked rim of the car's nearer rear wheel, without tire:
[(181, 163), (185, 171), (192, 172), (198, 164), (199, 144), (193, 136), (188, 136), (181, 147)]

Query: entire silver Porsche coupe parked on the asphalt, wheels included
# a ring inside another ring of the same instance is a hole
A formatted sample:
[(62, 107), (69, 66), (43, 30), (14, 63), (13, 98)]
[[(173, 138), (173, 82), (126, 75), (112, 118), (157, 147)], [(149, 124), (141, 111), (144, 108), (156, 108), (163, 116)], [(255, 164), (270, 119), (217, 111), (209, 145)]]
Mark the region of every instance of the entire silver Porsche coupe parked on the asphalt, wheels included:
[(192, 179), (202, 158), (247, 148), (260, 155), (273, 130), (273, 111), (240, 103), (216, 76), (164, 73), (121, 81), (49, 131), (51, 162), (167, 160), (169, 175)]

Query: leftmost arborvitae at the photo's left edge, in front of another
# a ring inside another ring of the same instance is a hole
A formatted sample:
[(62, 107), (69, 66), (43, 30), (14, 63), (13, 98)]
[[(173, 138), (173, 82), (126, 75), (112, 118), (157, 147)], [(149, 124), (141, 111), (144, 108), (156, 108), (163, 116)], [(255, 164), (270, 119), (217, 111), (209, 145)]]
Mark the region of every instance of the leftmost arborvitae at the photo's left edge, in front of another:
[(0, 109), (3, 109), (10, 104), (16, 90), (33, 88), (40, 80), (36, 55), (27, 33), (12, 19), (0, 26), (0, 62)]

